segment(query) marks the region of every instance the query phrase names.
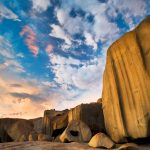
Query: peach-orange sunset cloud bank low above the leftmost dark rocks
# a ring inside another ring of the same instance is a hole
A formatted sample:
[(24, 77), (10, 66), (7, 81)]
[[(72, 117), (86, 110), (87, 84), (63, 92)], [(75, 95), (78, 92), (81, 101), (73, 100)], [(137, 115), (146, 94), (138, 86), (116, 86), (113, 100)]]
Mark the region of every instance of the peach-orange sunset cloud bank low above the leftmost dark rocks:
[[(54, 107), (54, 97), (48, 94), (49, 87), (46, 90), (46, 86), (38, 81), (15, 78), (0, 77), (0, 117), (34, 118)], [(43, 95), (44, 91), (47, 95)]]

